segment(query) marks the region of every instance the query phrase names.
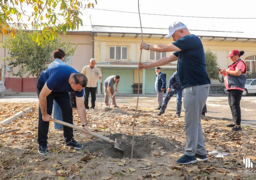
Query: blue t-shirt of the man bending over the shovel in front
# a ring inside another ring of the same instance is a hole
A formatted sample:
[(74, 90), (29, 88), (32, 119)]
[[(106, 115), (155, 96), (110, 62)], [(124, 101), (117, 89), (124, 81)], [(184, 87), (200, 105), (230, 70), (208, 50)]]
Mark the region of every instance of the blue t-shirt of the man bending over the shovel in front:
[(53, 92), (75, 92), (77, 97), (83, 97), (84, 89), (74, 91), (69, 84), (69, 76), (72, 73), (78, 72), (70, 66), (57, 65), (42, 72), (39, 80), (46, 83), (47, 87)]

